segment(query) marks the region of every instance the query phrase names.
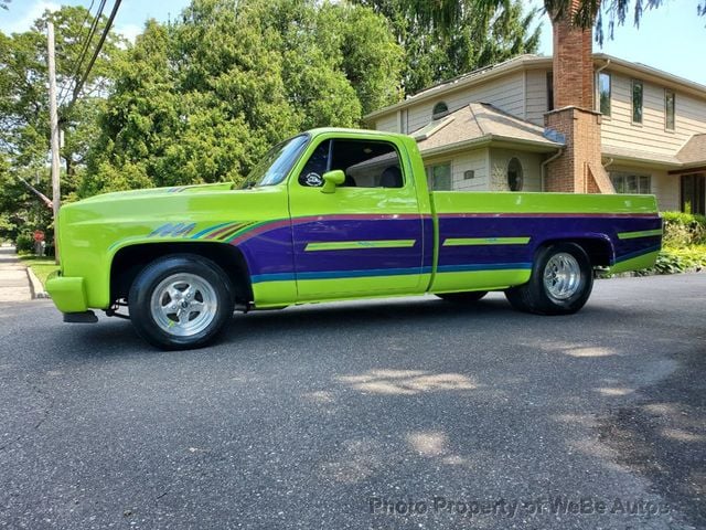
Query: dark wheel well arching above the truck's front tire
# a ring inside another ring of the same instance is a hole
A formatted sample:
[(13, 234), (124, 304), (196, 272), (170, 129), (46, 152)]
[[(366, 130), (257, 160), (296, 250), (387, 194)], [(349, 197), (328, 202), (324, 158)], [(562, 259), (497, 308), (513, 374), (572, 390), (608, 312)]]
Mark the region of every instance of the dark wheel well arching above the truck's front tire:
[(240, 251), (221, 243), (145, 243), (120, 248), (110, 264), (110, 300), (128, 297), (137, 275), (151, 262), (169, 254), (197, 254), (225, 272), (236, 303), (253, 300), (247, 263)]

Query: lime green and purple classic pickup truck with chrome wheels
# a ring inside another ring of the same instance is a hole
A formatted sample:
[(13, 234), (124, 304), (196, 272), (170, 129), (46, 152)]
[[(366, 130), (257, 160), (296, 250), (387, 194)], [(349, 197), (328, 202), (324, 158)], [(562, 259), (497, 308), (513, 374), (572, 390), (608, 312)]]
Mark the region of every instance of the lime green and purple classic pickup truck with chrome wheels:
[(165, 349), (211, 341), (234, 310), (431, 293), (565, 315), (593, 269), (651, 266), (651, 195), (429, 191), (404, 135), (315, 129), (275, 146), (232, 183), (108, 193), (61, 210), (61, 272), (46, 285), (66, 321), (127, 306)]

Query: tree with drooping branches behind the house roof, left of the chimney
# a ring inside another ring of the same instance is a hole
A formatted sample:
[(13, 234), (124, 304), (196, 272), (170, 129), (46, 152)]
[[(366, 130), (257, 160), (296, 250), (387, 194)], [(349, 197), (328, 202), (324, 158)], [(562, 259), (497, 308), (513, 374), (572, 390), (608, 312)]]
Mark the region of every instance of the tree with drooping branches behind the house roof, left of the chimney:
[(355, 1), (388, 19), (405, 50), (406, 94), (538, 46), (538, 10), (524, 13), (518, 0)]

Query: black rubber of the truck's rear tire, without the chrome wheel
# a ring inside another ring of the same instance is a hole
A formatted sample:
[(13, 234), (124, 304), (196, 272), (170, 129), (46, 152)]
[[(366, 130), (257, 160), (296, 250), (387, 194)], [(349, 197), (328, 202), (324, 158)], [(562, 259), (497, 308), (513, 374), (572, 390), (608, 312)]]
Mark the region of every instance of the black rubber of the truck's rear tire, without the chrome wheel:
[[(579, 287), (574, 295), (565, 300), (552, 298), (544, 285), (544, 272), (549, 259), (559, 253), (566, 253), (574, 256), (580, 268)], [(575, 243), (555, 243), (542, 248), (537, 253), (533, 271), (532, 279), (532, 306), (535, 310), (546, 315), (569, 315), (578, 311), (591, 294), (593, 287), (593, 269), (586, 251)]]

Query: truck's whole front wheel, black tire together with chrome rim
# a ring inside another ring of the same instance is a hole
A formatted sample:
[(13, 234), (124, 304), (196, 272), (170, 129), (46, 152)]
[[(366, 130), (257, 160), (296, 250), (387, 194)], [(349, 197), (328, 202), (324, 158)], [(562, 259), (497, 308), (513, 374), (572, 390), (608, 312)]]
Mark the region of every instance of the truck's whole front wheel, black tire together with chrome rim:
[(164, 350), (206, 346), (233, 316), (234, 304), (223, 269), (194, 254), (150, 263), (137, 275), (128, 295), (135, 330)]

